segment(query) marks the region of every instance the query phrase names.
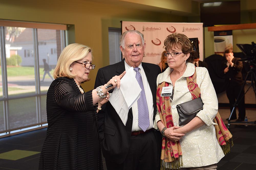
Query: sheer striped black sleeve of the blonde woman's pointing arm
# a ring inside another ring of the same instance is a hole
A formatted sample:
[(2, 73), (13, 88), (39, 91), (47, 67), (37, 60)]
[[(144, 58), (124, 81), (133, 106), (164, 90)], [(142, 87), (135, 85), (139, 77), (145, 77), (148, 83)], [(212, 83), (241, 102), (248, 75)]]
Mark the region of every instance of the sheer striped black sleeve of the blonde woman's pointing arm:
[(54, 100), (58, 106), (69, 111), (95, 111), (92, 101), (92, 90), (84, 94), (77, 94), (72, 84), (67, 81), (60, 81), (55, 85)]

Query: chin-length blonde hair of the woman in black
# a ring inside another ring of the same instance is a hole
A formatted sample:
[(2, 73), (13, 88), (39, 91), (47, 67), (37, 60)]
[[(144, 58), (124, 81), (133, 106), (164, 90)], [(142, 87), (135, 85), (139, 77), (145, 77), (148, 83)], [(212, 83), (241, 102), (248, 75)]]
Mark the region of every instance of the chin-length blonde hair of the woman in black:
[(54, 79), (58, 77), (74, 78), (76, 75), (72, 74), (69, 70), (70, 65), (78, 60), (83, 59), (92, 49), (86, 45), (74, 43), (69, 44), (63, 49), (58, 59), (56, 68), (54, 70)]

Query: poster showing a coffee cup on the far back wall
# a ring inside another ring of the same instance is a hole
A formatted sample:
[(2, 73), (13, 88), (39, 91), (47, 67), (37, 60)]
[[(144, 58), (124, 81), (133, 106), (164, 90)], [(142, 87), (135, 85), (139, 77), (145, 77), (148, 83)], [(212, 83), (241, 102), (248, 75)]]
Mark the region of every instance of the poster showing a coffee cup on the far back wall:
[(214, 31), (214, 53), (224, 53), (226, 49), (233, 49), (232, 30)]

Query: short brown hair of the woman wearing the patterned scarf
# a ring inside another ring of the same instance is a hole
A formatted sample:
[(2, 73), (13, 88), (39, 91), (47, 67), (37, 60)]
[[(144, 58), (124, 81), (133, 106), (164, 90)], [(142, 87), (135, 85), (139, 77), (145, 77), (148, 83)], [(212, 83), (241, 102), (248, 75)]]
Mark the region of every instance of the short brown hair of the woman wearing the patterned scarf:
[(193, 63), (195, 51), (193, 49), (193, 45), (191, 44), (186, 35), (180, 33), (173, 33), (168, 35), (164, 40), (164, 48), (166, 51), (170, 48), (176, 48), (178, 45), (181, 47), (184, 54), (190, 53), (187, 61)]

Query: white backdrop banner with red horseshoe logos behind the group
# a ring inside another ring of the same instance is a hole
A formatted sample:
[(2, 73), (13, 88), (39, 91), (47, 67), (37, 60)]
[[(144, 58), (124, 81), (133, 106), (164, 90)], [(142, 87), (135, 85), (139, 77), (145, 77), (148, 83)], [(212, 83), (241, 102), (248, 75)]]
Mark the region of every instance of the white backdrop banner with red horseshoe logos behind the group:
[(188, 38), (198, 38), (200, 60), (204, 58), (203, 23), (122, 21), (122, 33), (127, 30), (137, 30), (144, 34), (146, 50), (143, 62), (158, 64), (164, 51), (165, 38), (175, 32), (185, 34)]

